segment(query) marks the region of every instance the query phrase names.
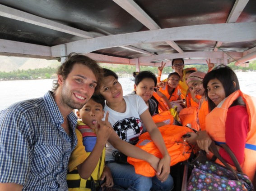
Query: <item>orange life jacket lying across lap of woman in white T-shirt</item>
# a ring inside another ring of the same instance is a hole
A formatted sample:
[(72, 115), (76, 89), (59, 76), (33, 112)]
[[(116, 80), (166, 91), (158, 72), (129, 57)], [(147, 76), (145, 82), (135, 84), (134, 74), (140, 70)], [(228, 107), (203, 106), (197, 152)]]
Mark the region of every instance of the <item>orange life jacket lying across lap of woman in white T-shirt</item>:
[[(164, 143), (167, 147), (169, 155), (171, 156), (170, 166), (187, 160), (192, 152), (192, 149), (191, 146), (187, 142), (184, 142), (181, 137), (183, 134), (191, 132), (191, 130), (186, 127), (170, 124), (159, 127), (158, 129), (163, 136)], [(151, 140), (148, 132), (140, 135), (139, 142), (135, 146), (157, 156), (158, 158), (163, 158), (163, 155)], [(141, 174), (146, 177), (153, 177), (156, 174), (153, 167), (144, 160), (139, 160), (128, 156), (127, 161), (134, 166), (135, 173), (137, 174)]]

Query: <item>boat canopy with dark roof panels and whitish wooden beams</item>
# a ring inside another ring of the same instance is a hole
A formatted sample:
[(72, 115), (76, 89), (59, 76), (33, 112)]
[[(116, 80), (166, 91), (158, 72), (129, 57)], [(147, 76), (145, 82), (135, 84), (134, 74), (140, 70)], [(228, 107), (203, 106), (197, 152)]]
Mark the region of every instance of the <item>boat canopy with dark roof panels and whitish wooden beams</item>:
[(157, 67), (256, 58), (256, 0), (0, 0), (0, 55)]

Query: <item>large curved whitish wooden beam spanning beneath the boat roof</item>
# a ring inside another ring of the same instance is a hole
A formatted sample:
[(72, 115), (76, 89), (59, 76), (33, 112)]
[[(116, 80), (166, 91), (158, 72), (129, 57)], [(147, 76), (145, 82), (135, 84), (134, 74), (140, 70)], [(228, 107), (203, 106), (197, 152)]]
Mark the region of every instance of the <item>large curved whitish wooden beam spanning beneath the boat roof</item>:
[[(195, 25), (102, 36), (67, 43), (67, 53), (90, 53), (99, 49), (168, 40), (245, 42), (256, 40), (256, 22)], [(246, 35), (245, 35), (246, 34)]]

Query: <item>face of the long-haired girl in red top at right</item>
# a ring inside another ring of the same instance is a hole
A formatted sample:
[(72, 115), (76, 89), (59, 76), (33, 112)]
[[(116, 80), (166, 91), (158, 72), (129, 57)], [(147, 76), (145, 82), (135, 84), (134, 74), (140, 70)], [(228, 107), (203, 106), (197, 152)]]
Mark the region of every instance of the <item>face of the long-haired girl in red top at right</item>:
[(224, 87), (217, 79), (209, 80), (206, 91), (216, 106), (226, 97)]

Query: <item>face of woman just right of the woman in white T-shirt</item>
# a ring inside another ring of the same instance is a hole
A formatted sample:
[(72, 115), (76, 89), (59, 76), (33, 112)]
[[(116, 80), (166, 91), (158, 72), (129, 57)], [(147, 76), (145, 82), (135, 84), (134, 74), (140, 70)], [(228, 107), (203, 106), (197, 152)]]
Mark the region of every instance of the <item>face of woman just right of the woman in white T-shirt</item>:
[(144, 78), (134, 89), (137, 95), (139, 95), (145, 102), (148, 102), (154, 93), (154, 80), (152, 78)]

